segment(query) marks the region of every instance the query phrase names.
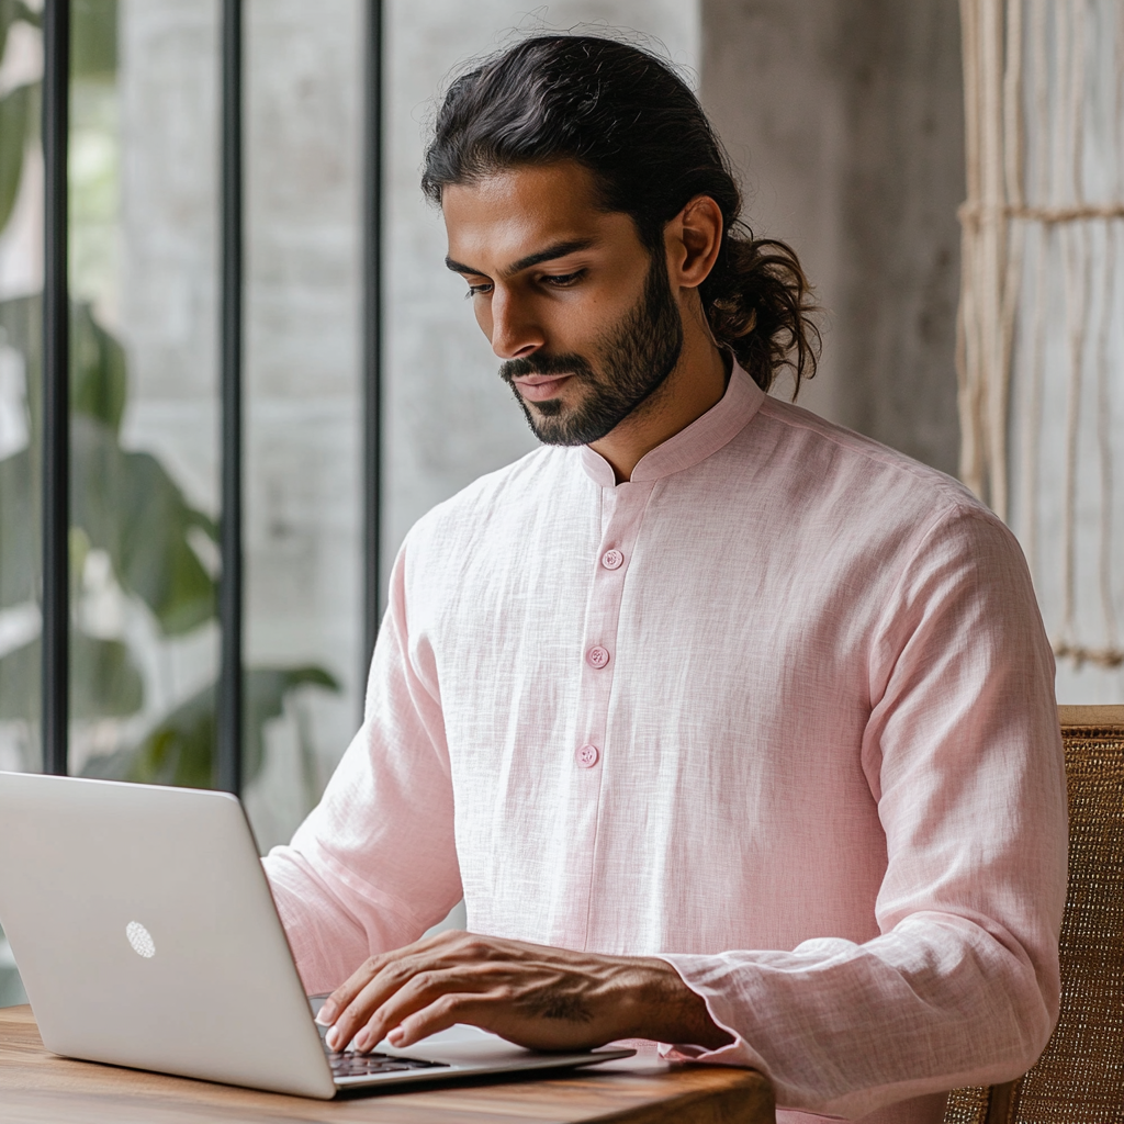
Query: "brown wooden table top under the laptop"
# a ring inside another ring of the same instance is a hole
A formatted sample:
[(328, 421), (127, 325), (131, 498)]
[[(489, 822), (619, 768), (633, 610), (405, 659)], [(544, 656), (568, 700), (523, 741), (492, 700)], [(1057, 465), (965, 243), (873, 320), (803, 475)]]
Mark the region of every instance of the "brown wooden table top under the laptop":
[(751, 1069), (606, 1062), (538, 1080), (463, 1084), (423, 1093), (309, 1100), (189, 1081), (43, 1049), (30, 1007), (0, 1009), (0, 1120), (4, 1124), (774, 1124), (769, 1082)]

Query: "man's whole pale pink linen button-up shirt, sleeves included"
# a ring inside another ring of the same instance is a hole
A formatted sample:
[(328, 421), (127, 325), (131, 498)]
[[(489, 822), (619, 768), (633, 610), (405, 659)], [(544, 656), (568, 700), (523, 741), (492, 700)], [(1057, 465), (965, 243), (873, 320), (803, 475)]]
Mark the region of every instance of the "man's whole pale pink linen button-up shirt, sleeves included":
[(661, 955), (781, 1122), (939, 1121), (1057, 1017), (1066, 795), (1026, 568), (959, 483), (768, 398), (615, 484), (541, 448), (410, 532), (366, 718), (265, 860), (310, 991), (470, 930)]

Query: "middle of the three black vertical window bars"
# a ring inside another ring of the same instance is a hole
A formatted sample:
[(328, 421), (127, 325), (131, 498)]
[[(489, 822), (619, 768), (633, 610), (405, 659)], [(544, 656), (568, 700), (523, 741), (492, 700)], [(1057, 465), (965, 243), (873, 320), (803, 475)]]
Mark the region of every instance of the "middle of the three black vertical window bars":
[(223, 572), (219, 580), (221, 650), (218, 683), (218, 787), (242, 789), (243, 551), (243, 128), (242, 0), (221, 0), (221, 324), (219, 382), (223, 409)]

